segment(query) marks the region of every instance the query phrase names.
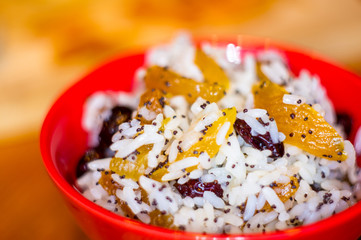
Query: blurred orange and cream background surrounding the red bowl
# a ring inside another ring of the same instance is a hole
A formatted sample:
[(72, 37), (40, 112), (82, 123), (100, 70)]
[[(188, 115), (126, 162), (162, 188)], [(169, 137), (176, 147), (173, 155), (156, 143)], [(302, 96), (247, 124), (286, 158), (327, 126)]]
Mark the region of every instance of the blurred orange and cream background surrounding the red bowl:
[(86, 239), (42, 165), (42, 120), (66, 87), (100, 63), (180, 29), (267, 37), (361, 74), (360, 0), (0, 1), (2, 238)]

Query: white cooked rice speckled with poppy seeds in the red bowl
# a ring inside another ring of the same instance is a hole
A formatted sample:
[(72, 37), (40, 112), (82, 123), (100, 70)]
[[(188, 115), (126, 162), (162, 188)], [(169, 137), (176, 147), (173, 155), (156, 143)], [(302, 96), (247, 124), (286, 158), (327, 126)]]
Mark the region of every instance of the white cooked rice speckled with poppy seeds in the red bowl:
[[(158, 209), (171, 214), (173, 224), (181, 230), (232, 234), (282, 230), (310, 224), (343, 211), (360, 199), (361, 174), (358, 174), (355, 150), (349, 141), (345, 141), (348, 159), (340, 163), (315, 157), (287, 144), (285, 155), (271, 160), (270, 150), (260, 151), (251, 147), (235, 132), (227, 136), (231, 124), (226, 122), (214, 139), (221, 146), (215, 157), (209, 158), (207, 152), (203, 152), (198, 157), (174, 162), (178, 148), (184, 151), (190, 149), (201, 137), (200, 131), (222, 115), (220, 109), (231, 106), (237, 108), (237, 118), (243, 119), (251, 127), (253, 136), (269, 132), (274, 143), (285, 139), (284, 133), (278, 131), (276, 122), (270, 121), (267, 111), (253, 107), (251, 87), (257, 81), (256, 60), (268, 62), (262, 64), (263, 73), (292, 92), (292, 95), (284, 96), (284, 103), (313, 104), (313, 108), (324, 115), (330, 124), (335, 124), (332, 104), (318, 77), (307, 70), (293, 77), (285, 64), (286, 60), (278, 52), (268, 50), (254, 55), (242, 52), (242, 48), (235, 45), (224, 48), (207, 43), (203, 44), (203, 50), (213, 56), (229, 76), (231, 86), (227, 95), (218, 103), (207, 103), (198, 98), (191, 105), (184, 97), (175, 96), (170, 99), (170, 105), (164, 107), (164, 115), (156, 116), (145, 108), (141, 114), (147, 116), (146, 119), (154, 119), (153, 124), (144, 125), (141, 134), (137, 132), (141, 127), (139, 121), (121, 124), (122, 131), (113, 136), (110, 146), (116, 151), (115, 157), (127, 158), (139, 147), (153, 144), (148, 157), (148, 172), (165, 160), (159, 157), (165, 151), (170, 163), (169, 173), (162, 178), (166, 182), (146, 176), (135, 182), (127, 176), (121, 178), (112, 174), (112, 179), (123, 189), (118, 189), (116, 196), (109, 196), (98, 181), (101, 177), (99, 170), (110, 171), (110, 159), (99, 159), (89, 162), (89, 171), (77, 181), (86, 198), (109, 211), (124, 215), (115, 201), (117, 197), (126, 202), (144, 223), (150, 223), (148, 213)], [(153, 48), (147, 55), (146, 65), (167, 66), (183, 76), (203, 81), (201, 71), (193, 63), (194, 51), (190, 39), (182, 36), (170, 45)], [(97, 144), (102, 121), (109, 116), (110, 109), (116, 105), (136, 109), (136, 101), (133, 100), (136, 97), (125, 93), (96, 93), (88, 100), (83, 126), (90, 134), (90, 146)], [(159, 134), (165, 118), (170, 118), (170, 121), (165, 124), (164, 133)], [(268, 126), (260, 124), (257, 118), (269, 123)], [(361, 139), (360, 132), (357, 136)], [(361, 151), (360, 143), (357, 149)], [(183, 170), (196, 165), (198, 168), (189, 174)], [(270, 184), (287, 183), (293, 175), (299, 179), (299, 188), (294, 196), (282, 202)], [(217, 181), (222, 187), (223, 197), (212, 191), (205, 191), (203, 197), (182, 197), (173, 186), (198, 178), (205, 183)], [(147, 192), (149, 203), (153, 204), (135, 200), (140, 198), (140, 188)], [(262, 210), (266, 204), (272, 206), (270, 211)]]

